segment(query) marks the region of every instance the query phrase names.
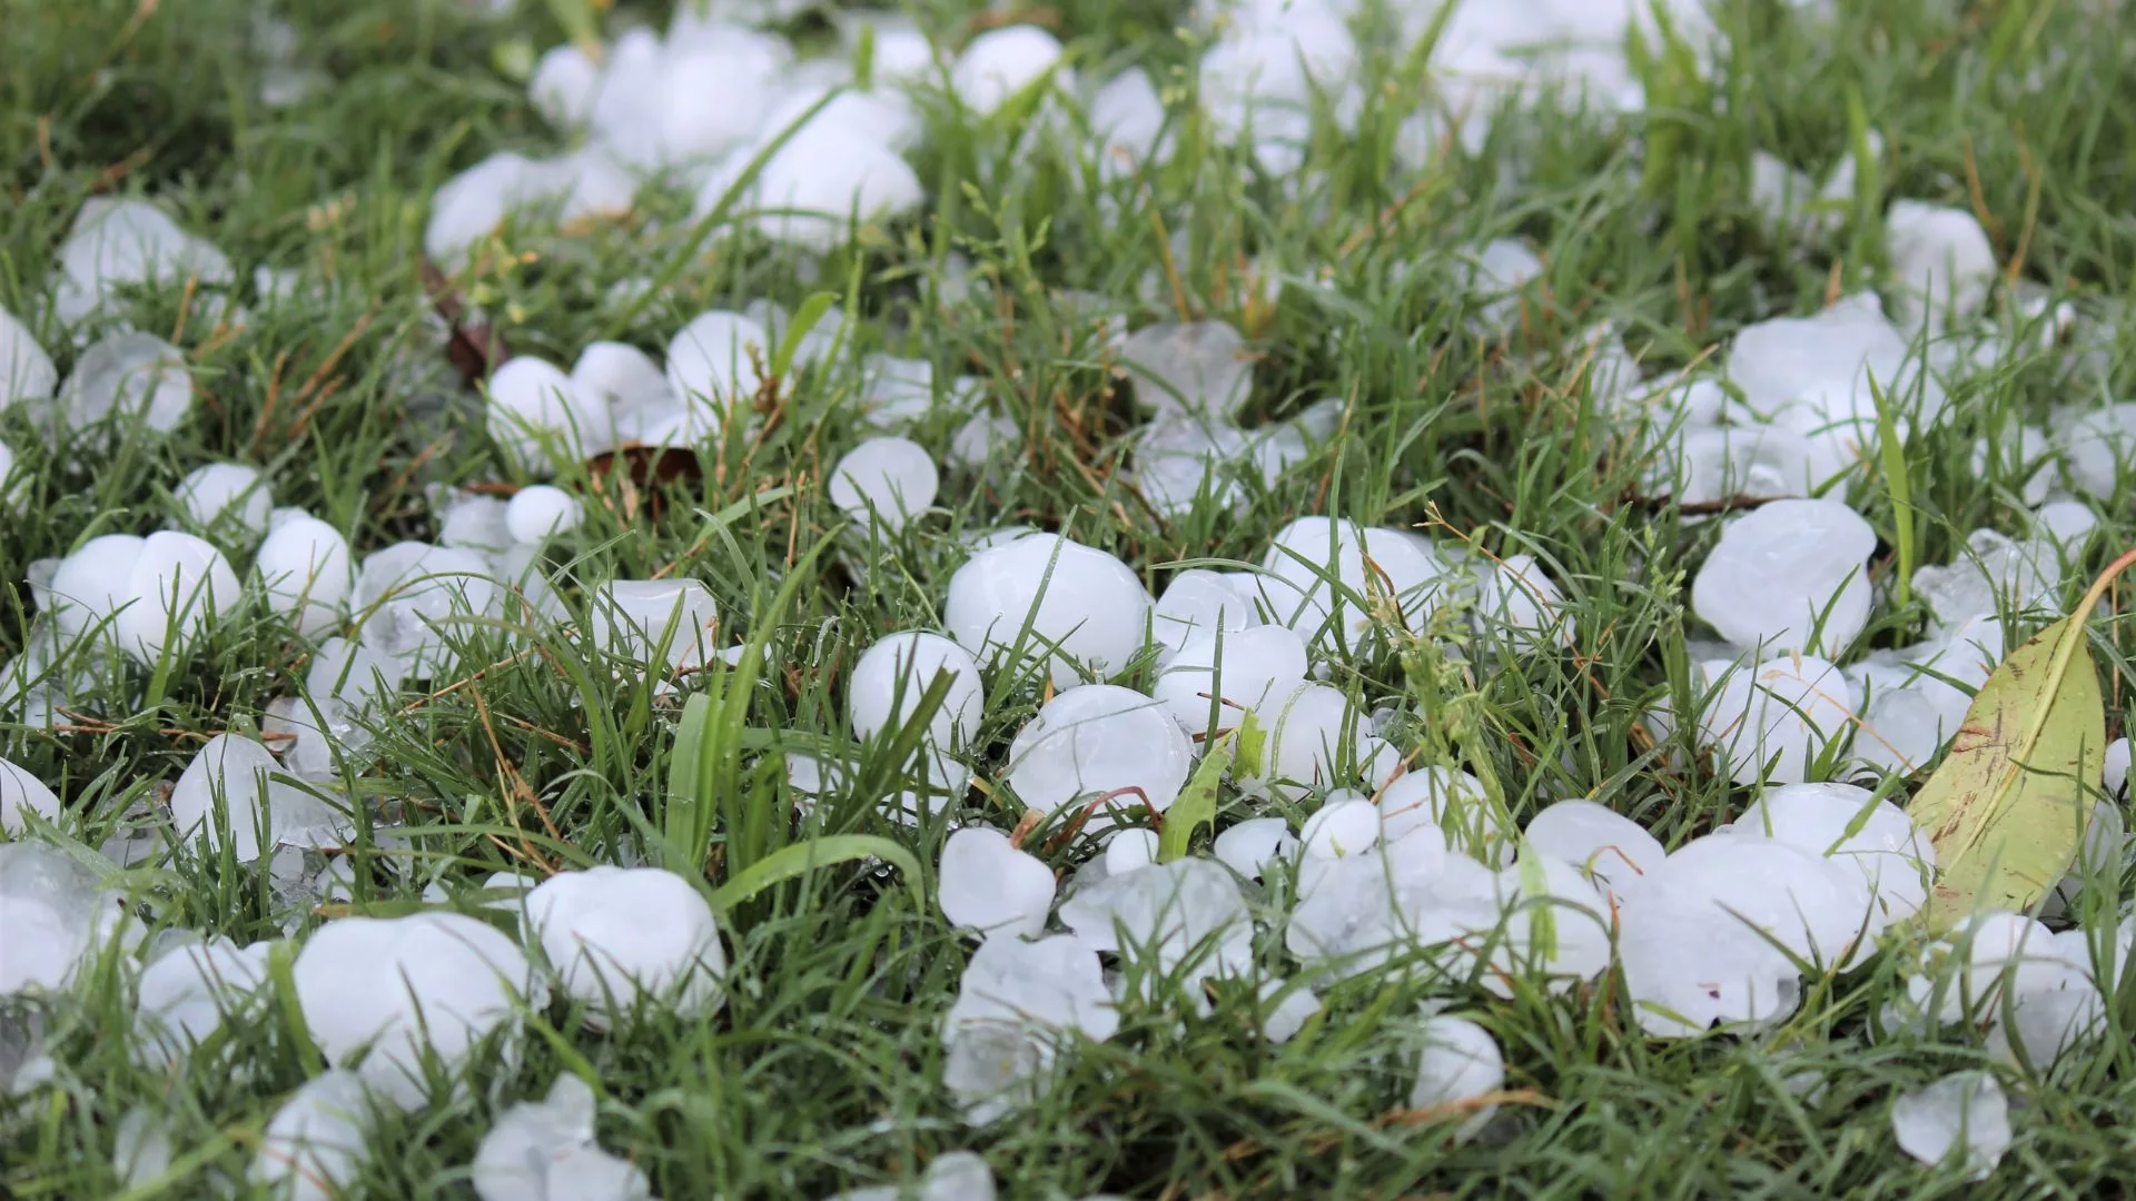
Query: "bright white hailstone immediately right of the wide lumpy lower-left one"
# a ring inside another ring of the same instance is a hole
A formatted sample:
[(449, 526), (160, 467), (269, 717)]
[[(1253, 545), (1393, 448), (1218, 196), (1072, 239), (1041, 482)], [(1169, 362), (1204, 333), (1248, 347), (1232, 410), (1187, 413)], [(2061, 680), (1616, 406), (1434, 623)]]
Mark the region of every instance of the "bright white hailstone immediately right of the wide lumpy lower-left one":
[(724, 1002), (726, 951), (705, 893), (662, 868), (587, 868), (549, 876), (525, 898), (528, 930), (564, 994), (609, 1030), (641, 1004), (705, 1017)]

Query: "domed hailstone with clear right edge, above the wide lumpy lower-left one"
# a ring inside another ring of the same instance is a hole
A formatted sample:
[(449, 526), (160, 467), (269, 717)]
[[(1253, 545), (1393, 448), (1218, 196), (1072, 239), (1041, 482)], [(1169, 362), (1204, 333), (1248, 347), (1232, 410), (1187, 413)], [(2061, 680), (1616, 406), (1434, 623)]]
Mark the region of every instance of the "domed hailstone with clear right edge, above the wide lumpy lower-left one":
[(171, 825), (182, 838), (207, 840), (209, 853), (220, 851), (226, 838), (239, 863), (252, 863), (276, 846), (340, 842), (348, 818), (305, 789), (278, 780), (280, 774), (282, 765), (265, 746), (218, 733), (171, 789)]

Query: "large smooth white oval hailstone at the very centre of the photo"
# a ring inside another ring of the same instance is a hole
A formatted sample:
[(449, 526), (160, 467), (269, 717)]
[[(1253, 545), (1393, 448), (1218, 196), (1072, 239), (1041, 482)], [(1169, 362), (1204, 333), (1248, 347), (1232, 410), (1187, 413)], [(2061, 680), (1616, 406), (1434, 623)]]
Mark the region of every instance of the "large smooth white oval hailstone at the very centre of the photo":
[(1053, 684), (1068, 688), (1085, 669), (1102, 680), (1143, 650), (1149, 605), (1143, 581), (1117, 558), (1059, 534), (1025, 534), (957, 568), (944, 626), (989, 667), (1010, 650), (1045, 656), (1053, 648)]

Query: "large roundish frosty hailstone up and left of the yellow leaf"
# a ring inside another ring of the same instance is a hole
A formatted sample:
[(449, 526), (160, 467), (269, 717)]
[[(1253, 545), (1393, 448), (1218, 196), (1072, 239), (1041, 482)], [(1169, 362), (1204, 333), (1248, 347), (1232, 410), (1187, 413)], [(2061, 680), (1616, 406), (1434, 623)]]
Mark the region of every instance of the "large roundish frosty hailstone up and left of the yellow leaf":
[(1837, 652), (1869, 624), (1871, 553), (1875, 530), (1846, 504), (1775, 500), (1722, 530), (1692, 579), (1692, 611), (1760, 654)]

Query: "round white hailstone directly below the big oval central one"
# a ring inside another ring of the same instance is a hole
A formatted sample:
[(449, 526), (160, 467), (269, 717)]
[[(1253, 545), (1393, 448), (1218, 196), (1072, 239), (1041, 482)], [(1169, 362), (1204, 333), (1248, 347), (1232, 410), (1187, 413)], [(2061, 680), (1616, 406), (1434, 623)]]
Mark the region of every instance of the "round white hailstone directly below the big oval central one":
[[(1025, 806), (1062, 814), (1104, 799), (1164, 812), (1194, 765), (1194, 744), (1160, 701), (1132, 688), (1085, 684), (1047, 701), (1008, 746), (1008, 786)], [(1106, 812), (1091, 827), (1113, 825)]]

